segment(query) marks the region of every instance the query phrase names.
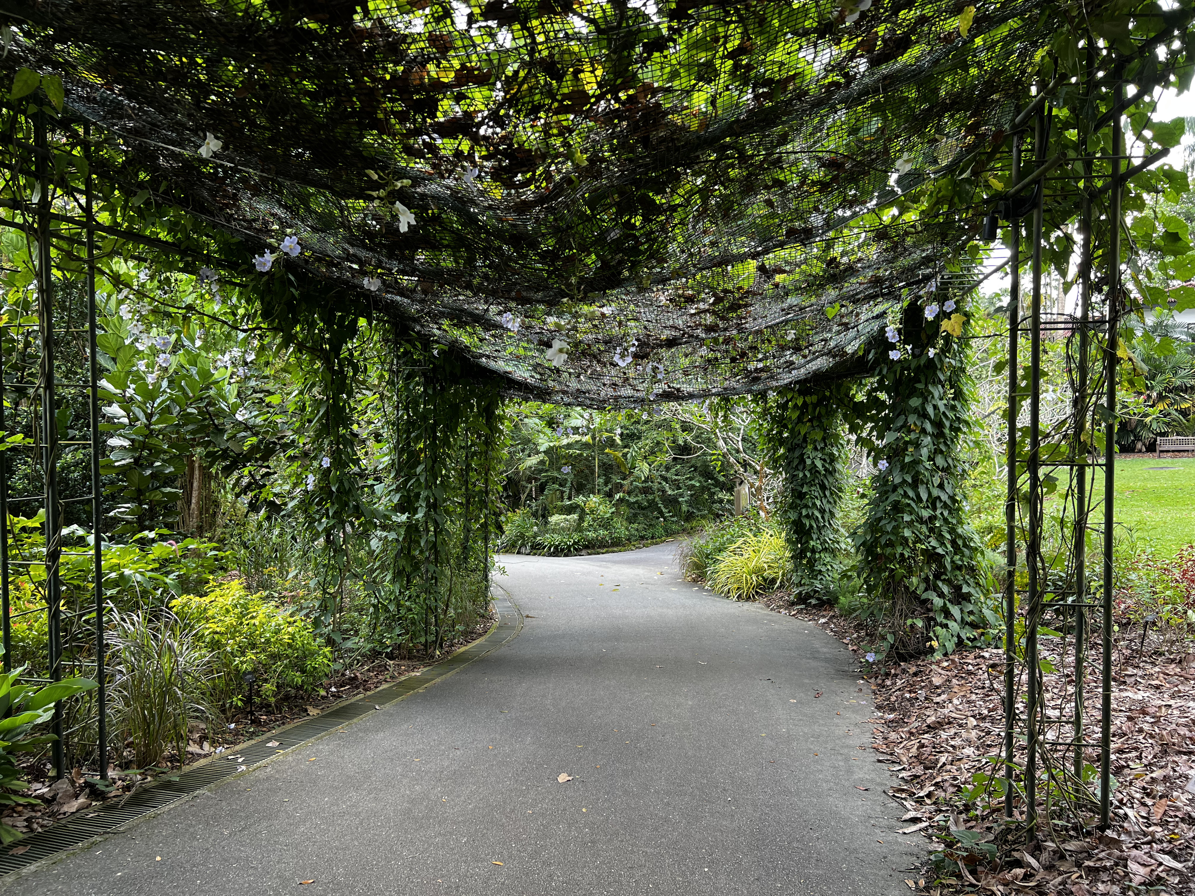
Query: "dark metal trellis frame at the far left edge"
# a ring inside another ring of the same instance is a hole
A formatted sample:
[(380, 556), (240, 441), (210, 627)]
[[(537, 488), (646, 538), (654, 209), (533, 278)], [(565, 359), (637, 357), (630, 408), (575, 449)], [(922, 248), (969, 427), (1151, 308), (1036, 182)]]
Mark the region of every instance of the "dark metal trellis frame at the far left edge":
[[(54, 297), (54, 259), (51, 251), (51, 223), (59, 217), (51, 209), (51, 178), (50, 178), (50, 129), (44, 110), (37, 110), (31, 116), (33, 125), (33, 146), (31, 155), (33, 160), (33, 179), (37, 184), (38, 201), (33, 209), (13, 203), (14, 217), (23, 217), (24, 222), (0, 216), (0, 227), (7, 227), (25, 233), (32, 244), (33, 257), (36, 259), (35, 284), (37, 296), (37, 378), (33, 383), (18, 385), (7, 381), (7, 367), (4, 358), (2, 343), (0, 343), (0, 432), (5, 437), (10, 436), (8, 426), (16, 421), (6, 417), (6, 411), (12, 404), (17, 393), (22, 400), (31, 406), (37, 406), (39, 415), (31, 418), (32, 453), (29, 456), (30, 465), (39, 466), (42, 473), (42, 492), (39, 495), (23, 495), (12, 497), (10, 495), (11, 460), (10, 452), (14, 450), (13, 444), (0, 450), (0, 643), (4, 646), (2, 665), (6, 673), (12, 671), (12, 566), (14, 563), (24, 565), (43, 565), (45, 570), (45, 606), (44, 608), (24, 610), (24, 613), (44, 612), (48, 622), (47, 645), (47, 679), (23, 676), (29, 682), (50, 682), (66, 677), (68, 667), (72, 673), (90, 671), (93, 675), (97, 688), (94, 689), (94, 725), (96, 743), (84, 743), (74, 739), (72, 735), (75, 729), (67, 730), (62, 702), (55, 704), (51, 730), (55, 741), (51, 747), (53, 775), (61, 778), (67, 772), (69, 761), (81, 759), (78, 748), (92, 747), (87, 751), (87, 761), (84, 763), (97, 767), (98, 777), (106, 779), (109, 775), (108, 755), (108, 681), (105, 669), (104, 649), (104, 573), (103, 573), (103, 490), (100, 481), (100, 416), (99, 416), (99, 372), (97, 361), (97, 308), (96, 308), (96, 231), (93, 210), (93, 183), (90, 170), (92, 160), (91, 128), (82, 125), (81, 134), (74, 129), (68, 129), (71, 136), (82, 147), (84, 158), (88, 162), (88, 172), (85, 178), (84, 189), (84, 219), (75, 223), (84, 231), (84, 239), (79, 240), (85, 245), (85, 291), (86, 291), (86, 337), (87, 337), (87, 381), (81, 383), (61, 382), (56, 372), (56, 343), (65, 331), (55, 323), (55, 297)], [(61, 125), (60, 125), (61, 127)], [(19, 149), (13, 147), (13, 154)], [(11, 173), (20, 171), (22, 162), (13, 160)], [(4, 329), (25, 329), (19, 321), (2, 321)], [(63, 612), (62, 603), (62, 518), (63, 503), (59, 491), (59, 467), (63, 459), (62, 443), (59, 441), (57, 412), (62, 406), (60, 389), (82, 388), (87, 395), (88, 405), (88, 438), (75, 442), (76, 446), (86, 446), (90, 452), (90, 495), (82, 498), (91, 504), (91, 538), (92, 545), (88, 551), (67, 552), (73, 556), (86, 556), (91, 558), (91, 587), (93, 601), (85, 605), (81, 601), (73, 612)], [(20, 446), (23, 447), (23, 446)], [(43, 535), (45, 545), (42, 548), (42, 557), (31, 560), (14, 560), (12, 547), (16, 544), (14, 533), (11, 527), (10, 504), (20, 502), (23, 510), (29, 504), (33, 504), (33, 513), (41, 508), (45, 513)], [(24, 613), (18, 613), (17, 616)], [(63, 653), (63, 626), (71, 631), (82, 632), (76, 628), (79, 624), (90, 621), (90, 634), (92, 637), (93, 658), (90, 661), (68, 658)], [(78, 726), (75, 726), (78, 728)]]

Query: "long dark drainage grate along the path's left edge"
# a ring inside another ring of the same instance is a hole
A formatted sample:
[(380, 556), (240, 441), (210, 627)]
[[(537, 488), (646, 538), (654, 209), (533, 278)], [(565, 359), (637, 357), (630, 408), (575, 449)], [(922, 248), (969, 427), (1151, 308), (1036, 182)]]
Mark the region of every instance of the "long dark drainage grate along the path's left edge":
[[(278, 754), (301, 747), (335, 728), (354, 722), (376, 708), (398, 702), (431, 682), (439, 681), (461, 667), (468, 665), (474, 659), (497, 650), (522, 631), (522, 614), (505, 596), (496, 597), (494, 603), (498, 612), (498, 624), (482, 640), (470, 644), (443, 662), (424, 669), (417, 675), (411, 675), (373, 693), (341, 704), (320, 716), (263, 735), (258, 739), (228, 750), (201, 766), (186, 769), (174, 780), (155, 781), (145, 790), (130, 793), (124, 799), (104, 803), (82, 815), (72, 816), (37, 834), (24, 837), (13, 845), (13, 848), (25, 847), (24, 852), (13, 855), (8, 849), (0, 854), (0, 876), (27, 867), (63, 849), (85, 843), (92, 837), (110, 834), (122, 826), (164, 809), (183, 797), (232, 778), (238, 774), (238, 771), (250, 769), (268, 762)], [(278, 745), (266, 745), (272, 742), (277, 742)]]

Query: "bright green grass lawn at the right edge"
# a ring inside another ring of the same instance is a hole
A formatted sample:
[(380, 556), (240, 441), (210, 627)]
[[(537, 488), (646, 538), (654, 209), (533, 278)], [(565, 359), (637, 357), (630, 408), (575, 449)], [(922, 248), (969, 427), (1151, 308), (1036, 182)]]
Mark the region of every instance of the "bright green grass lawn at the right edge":
[[(1173, 467), (1173, 470), (1151, 470)], [(1103, 493), (1103, 483), (1096, 486)], [(1166, 557), (1195, 541), (1195, 458), (1152, 454), (1116, 461), (1116, 522)]]

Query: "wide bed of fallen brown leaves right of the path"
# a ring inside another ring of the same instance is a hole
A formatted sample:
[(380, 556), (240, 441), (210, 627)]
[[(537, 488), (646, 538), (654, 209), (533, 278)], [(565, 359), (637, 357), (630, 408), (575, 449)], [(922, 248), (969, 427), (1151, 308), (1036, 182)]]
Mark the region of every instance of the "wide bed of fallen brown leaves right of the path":
[[(992, 771), (986, 757), (1003, 753), (1003, 650), (876, 669), (863, 658), (872, 634), (858, 620), (831, 608), (793, 608), (783, 593), (761, 602), (819, 625), (859, 656), (877, 712), (872, 749), (900, 780), (888, 796), (906, 810), (901, 833), (929, 837), (927, 851), (940, 854), (906, 880), (911, 891), (1195, 892), (1195, 653), (1166, 652), (1175, 649), (1172, 634), (1151, 634), (1140, 658), (1135, 630), (1122, 632), (1114, 648), (1111, 828), (1101, 834), (1043, 827), (1038, 842), (1027, 845), (1016, 826), (1005, 826), (1003, 802), (969, 802), (964, 793), (974, 786), (973, 774)], [(1095, 648), (1090, 663), (1098, 668)], [(1093, 741), (1099, 698), (1095, 686), (1087, 693)], [(1098, 766), (1095, 751), (1086, 761)], [(995, 845), (997, 859), (988, 860), (982, 847), (964, 848), (950, 834), (961, 829)]]

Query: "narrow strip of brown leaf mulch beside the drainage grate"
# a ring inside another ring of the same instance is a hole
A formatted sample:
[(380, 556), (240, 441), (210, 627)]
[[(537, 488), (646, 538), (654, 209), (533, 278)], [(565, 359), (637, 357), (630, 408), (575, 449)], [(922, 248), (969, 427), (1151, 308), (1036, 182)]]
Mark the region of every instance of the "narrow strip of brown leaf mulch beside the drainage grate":
[[(490, 631), (491, 625), (496, 621), (497, 616), (494, 614), (483, 616), (473, 631), (445, 648), (441, 658), (451, 656), (460, 648), (480, 638)], [(190, 742), (186, 747), (186, 762), (194, 763), (207, 756), (225, 753), (283, 725), (319, 716), (343, 700), (360, 696), (409, 675), (415, 675), (422, 669), (435, 665), (436, 662), (439, 661), (364, 657), (358, 665), (336, 673), (323, 682), (314, 693), (292, 694), (274, 705), (255, 706), (252, 719), (250, 719), (246, 708), (219, 724), (192, 723)], [(128, 761), (130, 757), (131, 751), (128, 751), (123, 759)], [(30, 781), (30, 786), (20, 793), (20, 796), (36, 798), (38, 803), (6, 806), (0, 812), (0, 818), (22, 834), (33, 834), (97, 803), (124, 797), (134, 790), (143, 787), (158, 775), (179, 771), (176, 751), (168, 753), (163, 759), (166, 767), (146, 769), (127, 768), (122, 771), (117, 768), (117, 765), (123, 763), (115, 762), (109, 769), (110, 785), (98, 781), (93, 771), (80, 768), (73, 769), (69, 775), (55, 781), (49, 778), (49, 763), (44, 760), (38, 761), (24, 769), (25, 780)], [(25, 847), (18, 841), (7, 852), (20, 854), (24, 851)]]

